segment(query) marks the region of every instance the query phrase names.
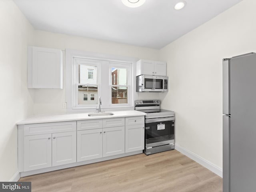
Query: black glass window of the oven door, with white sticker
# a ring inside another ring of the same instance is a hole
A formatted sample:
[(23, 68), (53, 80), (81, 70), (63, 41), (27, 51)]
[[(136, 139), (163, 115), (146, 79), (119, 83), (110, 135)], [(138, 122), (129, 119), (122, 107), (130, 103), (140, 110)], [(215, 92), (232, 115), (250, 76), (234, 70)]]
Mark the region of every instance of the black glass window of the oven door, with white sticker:
[(174, 121), (153, 122), (145, 125), (146, 144), (174, 139)]

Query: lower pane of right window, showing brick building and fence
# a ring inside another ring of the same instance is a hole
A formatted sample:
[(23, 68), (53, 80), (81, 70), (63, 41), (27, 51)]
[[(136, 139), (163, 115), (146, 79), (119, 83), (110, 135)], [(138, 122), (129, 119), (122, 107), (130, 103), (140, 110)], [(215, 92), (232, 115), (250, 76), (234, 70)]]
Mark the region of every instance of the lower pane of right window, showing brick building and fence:
[(126, 104), (127, 102), (127, 87), (111, 87), (112, 104)]

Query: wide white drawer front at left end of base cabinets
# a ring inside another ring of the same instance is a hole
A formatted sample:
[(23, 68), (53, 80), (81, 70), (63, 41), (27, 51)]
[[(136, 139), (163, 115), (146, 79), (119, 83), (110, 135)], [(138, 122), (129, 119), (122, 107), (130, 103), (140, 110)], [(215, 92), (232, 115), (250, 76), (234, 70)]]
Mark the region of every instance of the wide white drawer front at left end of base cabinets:
[(76, 121), (24, 125), (24, 136), (76, 131)]

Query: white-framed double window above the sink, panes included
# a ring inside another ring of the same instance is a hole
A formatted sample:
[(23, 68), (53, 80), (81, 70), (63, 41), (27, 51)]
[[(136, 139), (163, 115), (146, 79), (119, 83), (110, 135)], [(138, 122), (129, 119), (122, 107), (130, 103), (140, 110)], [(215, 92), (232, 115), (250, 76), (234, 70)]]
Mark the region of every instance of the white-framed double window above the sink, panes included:
[(102, 108), (134, 109), (134, 64), (136, 58), (66, 50), (66, 100), (68, 112)]

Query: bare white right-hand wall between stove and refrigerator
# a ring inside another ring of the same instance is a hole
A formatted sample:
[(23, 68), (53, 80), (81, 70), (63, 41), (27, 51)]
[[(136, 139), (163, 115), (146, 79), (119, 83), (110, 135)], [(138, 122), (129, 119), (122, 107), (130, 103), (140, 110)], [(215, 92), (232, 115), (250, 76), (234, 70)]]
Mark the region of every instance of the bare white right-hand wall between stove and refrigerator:
[[(256, 52), (256, 1), (243, 0), (160, 50), (176, 143), (222, 169), (222, 58)], [(244, 138), (246, 139), (246, 138)]]

